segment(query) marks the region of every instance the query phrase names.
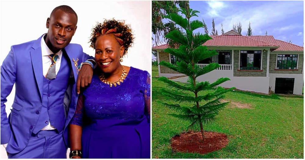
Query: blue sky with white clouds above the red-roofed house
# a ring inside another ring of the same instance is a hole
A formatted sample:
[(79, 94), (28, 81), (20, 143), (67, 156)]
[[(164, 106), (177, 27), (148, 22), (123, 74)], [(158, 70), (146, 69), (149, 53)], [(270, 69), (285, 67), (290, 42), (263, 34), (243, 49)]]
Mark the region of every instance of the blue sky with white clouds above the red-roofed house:
[[(191, 20), (204, 20), (209, 35), (212, 18), (218, 35), (221, 35), (221, 24), (225, 33), (238, 22), (242, 24), (241, 34), (246, 35), (250, 22), (252, 35), (265, 35), (267, 30), (275, 39), (292, 41), (299, 46), (304, 46), (303, 4), (303, 1), (189, 1), (190, 8), (200, 12)], [(204, 28), (195, 30), (198, 31), (204, 33)]]

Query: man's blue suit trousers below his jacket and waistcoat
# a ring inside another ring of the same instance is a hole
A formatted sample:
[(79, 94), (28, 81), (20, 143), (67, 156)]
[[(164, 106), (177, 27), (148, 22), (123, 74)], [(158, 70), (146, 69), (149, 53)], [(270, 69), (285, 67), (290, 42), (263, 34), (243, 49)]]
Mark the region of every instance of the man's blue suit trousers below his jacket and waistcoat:
[(63, 139), (63, 131), (41, 130), (30, 137), (27, 146), (8, 158), (67, 158), (67, 146)]

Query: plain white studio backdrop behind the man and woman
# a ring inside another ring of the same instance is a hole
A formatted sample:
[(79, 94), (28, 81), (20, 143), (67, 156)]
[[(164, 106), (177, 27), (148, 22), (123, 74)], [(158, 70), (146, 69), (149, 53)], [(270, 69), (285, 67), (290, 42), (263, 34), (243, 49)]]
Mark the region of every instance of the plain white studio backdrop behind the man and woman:
[[(77, 30), (70, 43), (81, 44), (84, 52), (93, 57), (95, 51), (89, 48), (88, 41), (96, 22), (102, 23), (105, 19), (112, 18), (125, 20), (132, 28), (135, 41), (128, 49), (122, 64), (147, 70), (151, 74), (150, 1), (1, 1), (0, 65), (12, 45), (36, 40), (47, 33), (46, 20), (59, 5), (69, 5), (78, 16)], [(14, 95), (15, 88), (5, 103), (8, 114)], [(0, 158), (7, 158), (2, 146), (0, 154)]]

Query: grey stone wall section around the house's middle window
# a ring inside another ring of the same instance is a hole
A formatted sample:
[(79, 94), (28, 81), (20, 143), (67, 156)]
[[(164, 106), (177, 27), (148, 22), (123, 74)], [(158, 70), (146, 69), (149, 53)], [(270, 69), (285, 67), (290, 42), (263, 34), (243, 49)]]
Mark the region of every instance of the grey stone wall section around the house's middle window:
[(267, 75), (267, 53), (262, 52), (262, 70), (263, 71), (238, 71), (239, 69), (239, 50), (234, 50), (234, 71), (233, 76), (251, 76), (251, 77), (265, 77)]

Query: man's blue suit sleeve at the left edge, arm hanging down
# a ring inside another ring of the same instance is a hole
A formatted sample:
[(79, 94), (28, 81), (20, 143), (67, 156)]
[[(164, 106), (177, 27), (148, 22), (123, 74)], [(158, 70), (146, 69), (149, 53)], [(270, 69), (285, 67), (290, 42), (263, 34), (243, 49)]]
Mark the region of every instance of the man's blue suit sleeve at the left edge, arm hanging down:
[(11, 93), (15, 83), (16, 70), (16, 55), (12, 46), (11, 51), (4, 59), (1, 66), (1, 144), (8, 143), (9, 138), (12, 135), (4, 103), (7, 101), (6, 98)]

